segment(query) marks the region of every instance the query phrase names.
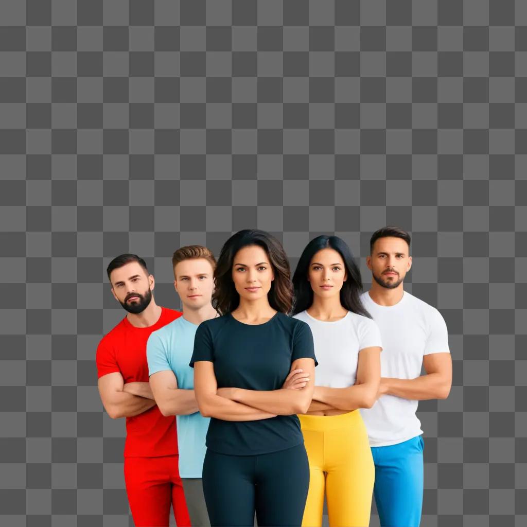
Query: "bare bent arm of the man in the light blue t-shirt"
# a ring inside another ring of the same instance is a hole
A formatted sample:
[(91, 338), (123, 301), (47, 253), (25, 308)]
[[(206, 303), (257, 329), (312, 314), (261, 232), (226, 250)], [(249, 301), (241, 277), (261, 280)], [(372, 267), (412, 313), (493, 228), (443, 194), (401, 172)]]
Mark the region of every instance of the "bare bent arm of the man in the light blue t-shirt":
[(163, 415), (188, 415), (198, 412), (194, 390), (178, 388), (178, 380), (172, 370), (151, 375), (150, 387)]

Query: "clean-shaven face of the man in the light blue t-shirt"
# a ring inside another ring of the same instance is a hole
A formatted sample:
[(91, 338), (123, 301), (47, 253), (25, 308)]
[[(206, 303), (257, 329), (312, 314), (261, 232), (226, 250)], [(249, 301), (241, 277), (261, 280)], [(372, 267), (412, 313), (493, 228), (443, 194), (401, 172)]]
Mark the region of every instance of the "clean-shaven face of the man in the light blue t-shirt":
[(174, 267), (174, 289), (187, 309), (198, 310), (210, 304), (214, 290), (214, 270), (204, 258), (183, 260)]

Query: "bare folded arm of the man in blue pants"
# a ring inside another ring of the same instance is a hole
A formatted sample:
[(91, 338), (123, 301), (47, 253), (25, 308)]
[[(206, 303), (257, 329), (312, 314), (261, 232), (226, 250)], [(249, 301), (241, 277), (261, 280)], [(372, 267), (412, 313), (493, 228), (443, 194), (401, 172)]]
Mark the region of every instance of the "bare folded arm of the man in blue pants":
[(452, 357), (450, 353), (431, 353), (423, 357), (426, 375), (415, 379), (380, 379), (379, 395), (396, 395), (405, 399), (425, 401), (446, 399), (452, 386)]

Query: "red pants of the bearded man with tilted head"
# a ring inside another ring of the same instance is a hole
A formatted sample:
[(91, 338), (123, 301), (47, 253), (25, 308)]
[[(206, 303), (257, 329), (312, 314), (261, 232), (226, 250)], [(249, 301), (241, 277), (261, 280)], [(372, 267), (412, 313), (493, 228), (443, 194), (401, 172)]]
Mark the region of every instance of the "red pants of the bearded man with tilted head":
[(170, 505), (178, 527), (190, 526), (178, 462), (179, 455), (124, 458), (124, 482), (136, 527), (168, 527)]

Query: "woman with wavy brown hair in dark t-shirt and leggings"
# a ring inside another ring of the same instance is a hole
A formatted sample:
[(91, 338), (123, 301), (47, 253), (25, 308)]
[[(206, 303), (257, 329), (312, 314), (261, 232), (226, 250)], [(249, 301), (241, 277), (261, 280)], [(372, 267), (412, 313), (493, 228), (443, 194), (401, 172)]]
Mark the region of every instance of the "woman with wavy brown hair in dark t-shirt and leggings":
[(221, 249), (214, 278), (221, 316), (200, 324), (190, 362), (200, 412), (211, 417), (211, 525), (252, 526), (256, 512), (259, 527), (300, 526), (309, 465), (296, 414), (311, 402), (316, 359), (309, 326), (287, 316), (287, 256), (269, 233), (242, 230)]

